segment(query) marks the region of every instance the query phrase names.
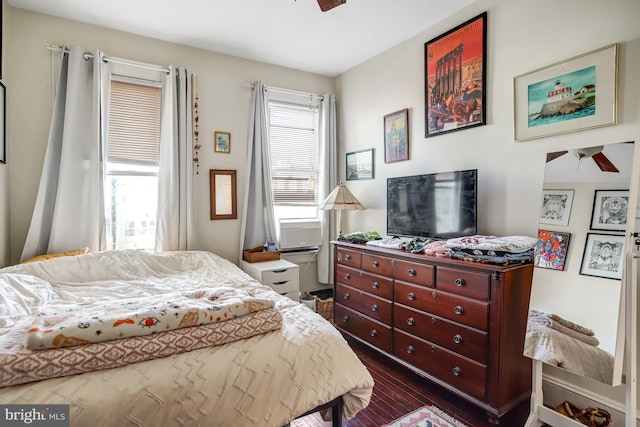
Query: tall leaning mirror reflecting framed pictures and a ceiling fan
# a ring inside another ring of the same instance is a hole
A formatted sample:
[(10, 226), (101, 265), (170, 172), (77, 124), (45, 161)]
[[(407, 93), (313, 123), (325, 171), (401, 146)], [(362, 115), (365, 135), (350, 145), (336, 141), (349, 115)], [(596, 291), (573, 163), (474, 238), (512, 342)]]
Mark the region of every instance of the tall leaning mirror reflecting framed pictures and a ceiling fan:
[(547, 154), (524, 349), (525, 356), (609, 385), (621, 381), (633, 159), (633, 143)]

